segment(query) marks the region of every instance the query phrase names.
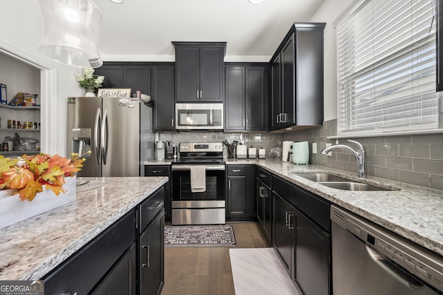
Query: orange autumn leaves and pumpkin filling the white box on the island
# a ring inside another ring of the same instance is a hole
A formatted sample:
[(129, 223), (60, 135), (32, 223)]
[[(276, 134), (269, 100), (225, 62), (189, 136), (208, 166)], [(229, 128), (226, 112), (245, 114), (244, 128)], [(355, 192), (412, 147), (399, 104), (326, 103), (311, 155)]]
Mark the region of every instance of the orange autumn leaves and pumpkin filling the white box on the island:
[(68, 159), (40, 153), (10, 159), (0, 155), (0, 189), (16, 189), (12, 195), (19, 194), (21, 200), (32, 201), (45, 185), (58, 196), (65, 192), (62, 187), (65, 178), (81, 170), (85, 161), (82, 156), (73, 153)]

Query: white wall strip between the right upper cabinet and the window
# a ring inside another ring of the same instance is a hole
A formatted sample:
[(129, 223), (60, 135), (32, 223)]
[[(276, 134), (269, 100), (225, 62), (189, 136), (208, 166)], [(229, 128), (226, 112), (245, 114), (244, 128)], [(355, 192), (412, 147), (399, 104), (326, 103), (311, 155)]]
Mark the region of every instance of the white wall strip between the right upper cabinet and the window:
[(324, 87), (325, 121), (337, 117), (337, 68), (336, 68), (336, 30), (334, 21), (351, 5), (354, 0), (325, 0), (309, 21), (325, 22), (325, 68)]

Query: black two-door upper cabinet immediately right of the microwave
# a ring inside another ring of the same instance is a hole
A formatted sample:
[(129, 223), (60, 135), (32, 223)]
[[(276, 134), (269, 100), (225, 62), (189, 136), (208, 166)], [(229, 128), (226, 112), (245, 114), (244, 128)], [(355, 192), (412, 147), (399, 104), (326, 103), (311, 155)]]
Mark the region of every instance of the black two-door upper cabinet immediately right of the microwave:
[(267, 64), (225, 66), (225, 131), (266, 131)]

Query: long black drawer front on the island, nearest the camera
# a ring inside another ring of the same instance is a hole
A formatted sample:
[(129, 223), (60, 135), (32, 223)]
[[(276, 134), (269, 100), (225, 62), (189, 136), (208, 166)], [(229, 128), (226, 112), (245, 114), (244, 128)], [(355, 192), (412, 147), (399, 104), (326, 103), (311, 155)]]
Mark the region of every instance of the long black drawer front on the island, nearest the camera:
[(132, 210), (46, 275), (45, 294), (89, 294), (136, 239), (135, 221)]

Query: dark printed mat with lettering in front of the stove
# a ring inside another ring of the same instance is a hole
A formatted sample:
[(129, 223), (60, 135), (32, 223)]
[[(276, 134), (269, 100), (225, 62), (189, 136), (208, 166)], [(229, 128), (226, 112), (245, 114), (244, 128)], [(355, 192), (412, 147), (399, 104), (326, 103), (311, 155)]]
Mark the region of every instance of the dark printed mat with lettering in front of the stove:
[(165, 247), (233, 247), (230, 225), (165, 226)]

